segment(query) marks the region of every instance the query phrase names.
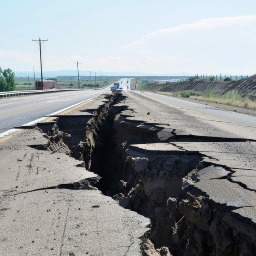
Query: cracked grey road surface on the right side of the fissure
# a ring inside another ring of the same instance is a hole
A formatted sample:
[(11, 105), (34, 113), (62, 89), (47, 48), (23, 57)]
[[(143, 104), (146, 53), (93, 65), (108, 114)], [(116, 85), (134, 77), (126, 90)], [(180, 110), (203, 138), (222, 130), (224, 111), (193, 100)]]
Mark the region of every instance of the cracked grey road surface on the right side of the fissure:
[[(218, 168), (199, 173), (193, 185), (256, 223), (256, 118), (154, 93), (125, 95), (128, 110), (122, 114), (126, 120), (162, 127), (159, 138), (164, 136), (170, 145), (131, 146), (155, 154), (168, 149), (170, 155), (180, 150), (198, 152), (203, 162)], [(219, 167), (228, 172), (220, 172)]]

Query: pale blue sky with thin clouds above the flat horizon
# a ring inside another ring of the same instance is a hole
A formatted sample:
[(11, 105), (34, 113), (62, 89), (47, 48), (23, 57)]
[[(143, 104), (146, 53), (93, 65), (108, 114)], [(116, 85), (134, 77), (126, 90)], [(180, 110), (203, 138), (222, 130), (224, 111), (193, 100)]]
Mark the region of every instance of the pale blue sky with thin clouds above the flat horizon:
[(149, 74), (256, 73), (256, 1), (5, 0), (0, 66)]

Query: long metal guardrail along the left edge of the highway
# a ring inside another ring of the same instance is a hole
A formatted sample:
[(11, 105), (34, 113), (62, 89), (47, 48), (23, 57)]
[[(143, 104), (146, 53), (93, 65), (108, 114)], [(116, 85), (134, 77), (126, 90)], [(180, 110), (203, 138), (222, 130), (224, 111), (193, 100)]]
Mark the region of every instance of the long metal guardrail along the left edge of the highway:
[(0, 93), (0, 98), (31, 95), (31, 94), (41, 94), (41, 93), (59, 93), (59, 92), (67, 92), (67, 91), (94, 91), (94, 90), (104, 89), (104, 88), (109, 87), (111, 85), (113, 85), (113, 84), (107, 85), (107, 86), (102, 87), (102, 88), (95, 88), (95, 89), (50, 89), (50, 90), (3, 92), (3, 93)]

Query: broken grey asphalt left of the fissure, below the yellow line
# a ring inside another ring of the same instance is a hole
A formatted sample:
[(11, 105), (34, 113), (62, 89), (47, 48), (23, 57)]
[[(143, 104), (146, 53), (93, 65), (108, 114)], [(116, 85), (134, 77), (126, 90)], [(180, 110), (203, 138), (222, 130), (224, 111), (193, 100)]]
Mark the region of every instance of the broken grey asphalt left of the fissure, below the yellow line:
[[(105, 100), (97, 97), (74, 114), (87, 115)], [(141, 255), (149, 219), (93, 185), (74, 189), (99, 177), (67, 154), (35, 148), (47, 141), (26, 129), (0, 142), (0, 254)]]

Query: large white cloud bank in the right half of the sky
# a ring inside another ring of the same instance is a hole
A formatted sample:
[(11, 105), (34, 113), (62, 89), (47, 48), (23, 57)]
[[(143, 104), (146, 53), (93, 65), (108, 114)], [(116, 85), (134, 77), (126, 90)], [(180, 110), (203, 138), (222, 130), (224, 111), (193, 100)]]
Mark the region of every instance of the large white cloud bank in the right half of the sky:
[[(186, 58), (175, 69), (191, 73), (220, 73), (225, 70), (256, 70), (256, 16), (202, 19), (191, 24), (161, 29), (121, 46), (125, 53)], [(252, 57), (254, 56), (254, 57)], [(168, 64), (165, 64), (168, 65)], [(172, 69), (173, 65), (163, 70)], [(208, 70), (211, 67), (212, 70)]]

